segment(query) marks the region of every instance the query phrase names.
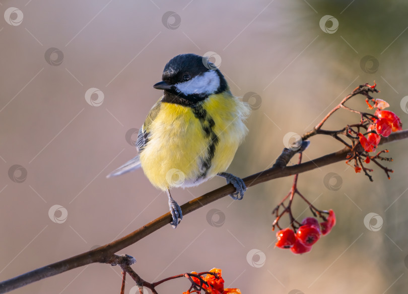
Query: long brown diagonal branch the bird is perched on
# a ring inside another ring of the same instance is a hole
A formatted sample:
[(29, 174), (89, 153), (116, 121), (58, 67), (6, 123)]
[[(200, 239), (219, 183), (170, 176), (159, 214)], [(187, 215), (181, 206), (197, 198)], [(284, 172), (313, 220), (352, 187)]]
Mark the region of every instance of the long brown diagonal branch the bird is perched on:
[[(393, 141), (402, 140), (406, 138), (408, 138), (408, 130), (403, 130), (403, 131), (392, 133), (386, 138), (382, 137), (380, 144), (390, 143)], [(250, 176), (247, 176), (246, 178), (243, 178), (243, 180), (245, 181), (245, 184), (248, 187), (250, 187), (250, 186), (254, 186), (256, 184), (259, 184), (265, 181), (269, 181), (272, 179), (290, 176), (290, 175), (294, 175), (297, 173), (302, 173), (305, 171), (315, 169), (317, 167), (321, 167), (321, 166), (335, 163), (338, 161), (346, 160), (346, 157), (350, 152), (350, 149), (345, 147), (342, 150), (338, 150), (337, 152), (324, 155), (322, 157), (319, 157), (314, 160), (310, 160), (305, 163), (292, 165), (292, 166), (286, 166), (286, 164), (289, 163), (293, 155), (295, 155), (299, 151), (304, 150), (308, 144), (309, 144), (308, 141), (302, 142), (300, 149), (297, 151), (293, 151), (293, 150), (285, 148), (282, 154), (277, 159), (276, 164), (273, 167), (263, 170), (261, 172), (252, 174)], [(235, 191), (234, 186), (232, 184), (227, 184), (218, 189), (215, 189), (206, 194), (203, 194), (202, 196), (194, 200), (191, 200), (181, 206), (183, 215), (185, 216), (207, 204), (210, 204), (218, 199), (225, 197), (226, 195), (234, 191)], [(56, 275), (58, 273), (61, 273), (61, 272), (64, 272), (70, 269), (81, 267), (81, 266), (84, 266), (90, 263), (100, 262), (100, 263), (112, 264), (116, 260), (115, 258), (117, 258), (117, 255), (114, 254), (115, 252), (122, 250), (123, 248), (126, 248), (127, 246), (134, 244), (135, 242), (138, 242), (139, 240), (157, 231), (161, 227), (168, 225), (171, 221), (172, 221), (172, 218), (171, 218), (170, 213), (166, 213), (162, 215), (161, 217), (155, 219), (154, 221), (139, 228), (138, 230), (118, 240), (115, 240), (109, 244), (106, 244), (94, 250), (46, 265), (44, 267), (40, 267), (38, 269), (35, 269), (27, 273), (24, 273), (22, 275), (19, 275), (17, 277), (13, 277), (9, 280), (5, 280), (0, 283), (0, 293), (6, 293), (11, 290), (14, 290), (19, 287), (30, 284), (32, 282), (44, 279), (49, 276)], [(136, 273), (130, 271), (129, 268), (130, 266), (126, 268), (127, 273), (133, 279), (139, 280), (139, 282), (142, 282), (140, 277)]]

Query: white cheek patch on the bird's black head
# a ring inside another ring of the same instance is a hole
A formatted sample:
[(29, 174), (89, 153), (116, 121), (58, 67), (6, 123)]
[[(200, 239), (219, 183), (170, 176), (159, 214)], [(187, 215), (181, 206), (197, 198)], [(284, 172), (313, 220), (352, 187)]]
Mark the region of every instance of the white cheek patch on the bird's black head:
[(220, 86), (220, 77), (215, 70), (209, 70), (197, 75), (189, 81), (175, 85), (183, 94), (211, 94)]

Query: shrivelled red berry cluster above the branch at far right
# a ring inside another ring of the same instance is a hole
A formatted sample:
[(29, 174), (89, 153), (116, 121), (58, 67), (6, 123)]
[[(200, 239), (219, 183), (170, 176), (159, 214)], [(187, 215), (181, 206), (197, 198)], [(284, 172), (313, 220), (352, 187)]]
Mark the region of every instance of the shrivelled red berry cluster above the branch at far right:
[(371, 109), (374, 107), (377, 108), (374, 116), (376, 116), (378, 119), (372, 118), (373, 123), (368, 127), (367, 132), (376, 133), (369, 133), (367, 134), (367, 137), (365, 137), (362, 133), (358, 133), (360, 144), (367, 152), (375, 151), (381, 140), (380, 135), (383, 137), (388, 137), (391, 132), (402, 130), (402, 123), (399, 117), (392, 111), (383, 110), (388, 106), (389, 104), (381, 99), (376, 99), (374, 106), (370, 106)]

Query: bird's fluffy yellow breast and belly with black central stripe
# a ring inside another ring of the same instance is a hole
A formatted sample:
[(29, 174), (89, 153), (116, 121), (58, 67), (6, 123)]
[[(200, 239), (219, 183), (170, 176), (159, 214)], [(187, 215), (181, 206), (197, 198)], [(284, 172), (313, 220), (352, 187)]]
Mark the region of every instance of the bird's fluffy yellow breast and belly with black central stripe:
[(229, 92), (197, 108), (160, 103), (140, 159), (153, 185), (193, 186), (225, 171), (247, 132), (248, 105)]

